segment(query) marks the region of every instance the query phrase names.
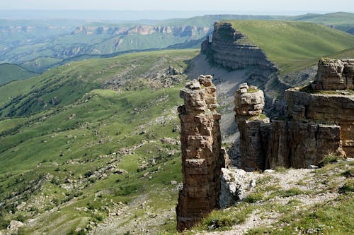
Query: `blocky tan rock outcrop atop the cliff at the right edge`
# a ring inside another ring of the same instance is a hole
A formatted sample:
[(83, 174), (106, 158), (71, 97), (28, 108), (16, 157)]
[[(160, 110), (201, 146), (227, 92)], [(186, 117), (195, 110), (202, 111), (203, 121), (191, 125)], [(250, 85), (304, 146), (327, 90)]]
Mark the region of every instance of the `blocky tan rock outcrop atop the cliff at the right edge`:
[(313, 88), (316, 90), (353, 90), (354, 59), (320, 59)]

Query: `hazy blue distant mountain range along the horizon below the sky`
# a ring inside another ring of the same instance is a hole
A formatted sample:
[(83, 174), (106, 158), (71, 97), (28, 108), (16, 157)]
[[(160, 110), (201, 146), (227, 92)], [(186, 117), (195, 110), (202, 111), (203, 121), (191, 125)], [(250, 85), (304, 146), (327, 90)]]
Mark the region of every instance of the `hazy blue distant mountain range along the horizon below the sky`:
[[(3, 18), (6, 18), (3, 14)], [(0, 63), (42, 73), (68, 61), (132, 51), (198, 48), (219, 20), (293, 20), (354, 33), (354, 13), (301, 16), (205, 15), (100, 23), (87, 20), (0, 20)]]

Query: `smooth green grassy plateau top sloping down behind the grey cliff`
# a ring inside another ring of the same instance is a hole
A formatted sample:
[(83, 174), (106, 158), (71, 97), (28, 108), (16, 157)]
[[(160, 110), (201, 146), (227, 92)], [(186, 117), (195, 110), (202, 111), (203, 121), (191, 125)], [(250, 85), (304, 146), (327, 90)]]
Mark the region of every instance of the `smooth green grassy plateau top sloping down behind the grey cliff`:
[[(224, 21), (222, 21), (224, 22)], [(321, 56), (354, 47), (354, 36), (315, 23), (230, 20), (251, 44), (263, 49), (282, 73), (297, 71)]]

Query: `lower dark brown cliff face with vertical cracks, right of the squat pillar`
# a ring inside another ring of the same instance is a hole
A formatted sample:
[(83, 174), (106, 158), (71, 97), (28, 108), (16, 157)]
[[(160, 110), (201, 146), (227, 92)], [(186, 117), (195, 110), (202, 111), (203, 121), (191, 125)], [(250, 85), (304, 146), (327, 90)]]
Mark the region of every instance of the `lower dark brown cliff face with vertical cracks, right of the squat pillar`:
[(341, 150), (341, 127), (298, 121), (272, 121), (261, 126), (265, 169), (307, 168), (329, 152)]

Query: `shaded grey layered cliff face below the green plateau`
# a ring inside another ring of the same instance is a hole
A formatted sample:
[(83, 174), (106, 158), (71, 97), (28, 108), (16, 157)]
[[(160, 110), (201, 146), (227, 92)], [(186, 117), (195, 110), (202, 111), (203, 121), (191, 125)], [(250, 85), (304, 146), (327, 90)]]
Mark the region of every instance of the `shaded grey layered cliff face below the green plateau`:
[[(285, 89), (290, 88), (278, 78), (278, 68), (270, 61), (257, 45), (251, 44), (246, 35), (232, 27), (231, 23), (215, 23), (214, 31), (202, 42), (202, 51), (212, 64), (227, 69), (249, 69), (245, 81), (257, 85), (265, 92), (265, 110), (275, 116), (280, 109), (272, 107), (282, 97)], [(272, 109), (272, 110), (270, 110)]]

